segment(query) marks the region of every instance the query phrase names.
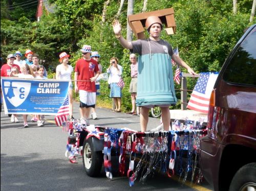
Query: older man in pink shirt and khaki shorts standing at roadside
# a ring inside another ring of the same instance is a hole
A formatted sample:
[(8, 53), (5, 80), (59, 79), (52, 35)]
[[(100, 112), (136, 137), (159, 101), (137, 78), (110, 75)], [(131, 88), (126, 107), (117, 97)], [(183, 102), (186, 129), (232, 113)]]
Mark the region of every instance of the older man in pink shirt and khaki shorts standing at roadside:
[(127, 114), (137, 115), (135, 101), (136, 101), (136, 95), (137, 95), (138, 62), (135, 54), (130, 55), (130, 61), (131, 61), (130, 67), (131, 67), (132, 80), (130, 83), (129, 92), (131, 93), (131, 99), (132, 99), (132, 111)]

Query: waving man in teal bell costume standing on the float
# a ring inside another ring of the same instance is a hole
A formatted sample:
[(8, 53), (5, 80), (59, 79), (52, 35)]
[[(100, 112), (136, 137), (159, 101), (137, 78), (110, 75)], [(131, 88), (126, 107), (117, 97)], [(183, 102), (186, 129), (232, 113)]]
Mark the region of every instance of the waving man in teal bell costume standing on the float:
[(137, 106), (141, 107), (141, 132), (146, 131), (148, 111), (159, 106), (162, 111), (163, 128), (169, 130), (169, 106), (177, 103), (174, 89), (171, 60), (187, 69), (189, 74), (197, 75), (180, 57), (174, 54), (172, 46), (162, 39), (160, 33), (162, 22), (157, 16), (149, 16), (145, 26), (150, 37), (129, 42), (121, 35), (121, 25), (118, 20), (113, 23), (113, 30), (121, 45), (139, 54)]

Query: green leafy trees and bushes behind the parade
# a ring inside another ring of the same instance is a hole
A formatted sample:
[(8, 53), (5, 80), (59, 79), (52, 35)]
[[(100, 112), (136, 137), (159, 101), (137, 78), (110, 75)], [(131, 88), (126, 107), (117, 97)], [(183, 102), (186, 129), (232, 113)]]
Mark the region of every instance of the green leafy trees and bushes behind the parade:
[[(129, 51), (120, 46), (112, 30), (120, 1), (110, 1), (104, 23), (101, 21), (104, 0), (48, 0), (55, 6), (54, 13), (45, 10), (39, 22), (35, 20), (37, 3), (26, 5), (26, 2), (12, 1), (12, 9), (7, 9), (8, 1), (1, 1), (1, 58), (17, 50), (25, 53), (31, 49), (40, 55), (41, 64), (48, 68), (49, 77), (54, 78), (61, 51), (71, 55), (70, 63), (75, 66), (81, 57), (80, 48), (89, 44), (93, 51), (99, 52), (103, 72), (111, 57), (119, 58), (126, 84), (122, 90), (122, 109), (130, 110)], [(148, 0), (147, 11), (174, 8), (177, 33), (168, 36), (163, 32), (162, 38), (178, 47), (180, 57), (200, 73), (220, 70), (244, 29), (255, 23), (255, 18), (249, 23), (251, 6), (251, 0), (238, 1), (238, 13), (233, 14), (230, 0)], [(135, 0), (134, 14), (140, 13), (142, 7), (143, 1)], [(123, 36), (126, 36), (126, 12), (127, 1), (119, 17)], [(193, 89), (195, 83), (196, 80), (188, 79), (188, 89)], [(180, 99), (180, 91), (177, 97)], [(111, 105), (106, 82), (101, 82), (97, 102)], [(180, 103), (176, 108), (179, 107)]]

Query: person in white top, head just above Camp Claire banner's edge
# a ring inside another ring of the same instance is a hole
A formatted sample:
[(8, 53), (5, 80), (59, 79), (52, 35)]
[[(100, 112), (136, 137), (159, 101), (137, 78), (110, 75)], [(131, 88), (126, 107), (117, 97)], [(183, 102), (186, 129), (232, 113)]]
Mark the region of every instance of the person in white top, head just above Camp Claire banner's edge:
[[(15, 71), (12, 70), (10, 77), (18, 77), (18, 78), (27, 78), (27, 79), (33, 79), (34, 77), (32, 76), (33, 71), (29, 67), (28, 64), (22, 64), (19, 66), (20, 73), (19, 74), (14, 74)], [(23, 115), (23, 120), (24, 120), (24, 127), (27, 128), (28, 126), (28, 115)]]

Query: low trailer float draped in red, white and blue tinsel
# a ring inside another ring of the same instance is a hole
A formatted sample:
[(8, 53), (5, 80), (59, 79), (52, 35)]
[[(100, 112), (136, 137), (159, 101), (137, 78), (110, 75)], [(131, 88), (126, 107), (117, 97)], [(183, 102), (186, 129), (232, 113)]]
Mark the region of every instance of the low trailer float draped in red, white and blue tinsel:
[[(194, 124), (194, 125), (193, 125)], [(129, 185), (138, 179), (145, 182), (156, 171), (193, 182), (201, 182), (198, 168), (199, 139), (206, 134), (202, 123), (175, 121), (170, 131), (138, 132), (81, 124), (79, 121), (64, 122), (63, 132), (68, 132), (66, 157), (77, 163), (82, 156), (88, 176), (100, 174), (104, 165), (106, 177), (113, 178), (113, 159), (118, 158), (119, 176), (127, 176)], [(179, 129), (179, 130), (177, 130)], [(183, 129), (183, 130), (181, 130)]]

